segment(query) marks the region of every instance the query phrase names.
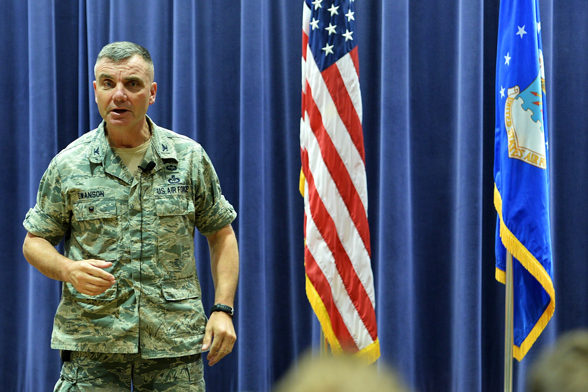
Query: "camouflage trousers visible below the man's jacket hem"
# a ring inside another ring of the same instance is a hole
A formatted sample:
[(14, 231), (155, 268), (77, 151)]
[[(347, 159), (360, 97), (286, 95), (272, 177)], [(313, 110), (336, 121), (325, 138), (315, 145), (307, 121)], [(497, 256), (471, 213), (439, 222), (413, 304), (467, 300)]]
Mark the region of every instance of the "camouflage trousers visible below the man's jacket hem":
[(201, 354), (141, 358), (141, 354), (72, 351), (54, 392), (204, 392)]

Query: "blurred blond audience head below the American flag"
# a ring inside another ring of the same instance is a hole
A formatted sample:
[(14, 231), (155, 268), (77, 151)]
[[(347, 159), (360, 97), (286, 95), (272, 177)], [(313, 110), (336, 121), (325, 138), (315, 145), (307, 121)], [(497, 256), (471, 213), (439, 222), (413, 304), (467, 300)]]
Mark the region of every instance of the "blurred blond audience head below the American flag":
[(408, 392), (384, 364), (366, 366), (349, 355), (307, 353), (276, 385), (275, 392)]

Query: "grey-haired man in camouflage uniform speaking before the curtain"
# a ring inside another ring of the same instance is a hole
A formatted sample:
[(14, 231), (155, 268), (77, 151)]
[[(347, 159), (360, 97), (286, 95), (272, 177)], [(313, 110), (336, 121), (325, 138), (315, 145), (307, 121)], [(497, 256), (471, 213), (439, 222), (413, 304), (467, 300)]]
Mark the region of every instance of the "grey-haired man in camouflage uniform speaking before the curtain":
[[(145, 48), (106, 45), (95, 75), (104, 121), (51, 161), (24, 221), (26, 260), (64, 282), (55, 391), (129, 391), (131, 381), (135, 391), (203, 391), (202, 351), (215, 364), (236, 339), (235, 210), (202, 147), (147, 117), (157, 84)], [(195, 228), (209, 242), (215, 303), (226, 305), (208, 323)]]

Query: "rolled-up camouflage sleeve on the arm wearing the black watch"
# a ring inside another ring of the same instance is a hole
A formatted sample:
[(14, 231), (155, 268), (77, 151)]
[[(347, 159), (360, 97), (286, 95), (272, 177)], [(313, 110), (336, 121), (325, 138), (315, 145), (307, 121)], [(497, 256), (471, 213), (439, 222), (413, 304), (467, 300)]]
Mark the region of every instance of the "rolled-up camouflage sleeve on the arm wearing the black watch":
[(198, 166), (194, 197), (196, 228), (202, 235), (211, 235), (235, 220), (237, 213), (220, 191), (215, 168), (202, 148)]

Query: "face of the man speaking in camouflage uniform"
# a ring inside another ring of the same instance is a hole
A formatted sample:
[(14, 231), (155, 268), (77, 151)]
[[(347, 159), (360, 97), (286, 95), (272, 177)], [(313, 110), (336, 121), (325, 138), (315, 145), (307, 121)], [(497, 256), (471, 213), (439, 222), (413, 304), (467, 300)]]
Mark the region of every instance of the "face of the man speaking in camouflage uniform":
[(118, 62), (101, 59), (93, 85), (98, 111), (111, 129), (140, 128), (155, 102), (157, 84), (152, 82), (149, 64), (139, 56)]

